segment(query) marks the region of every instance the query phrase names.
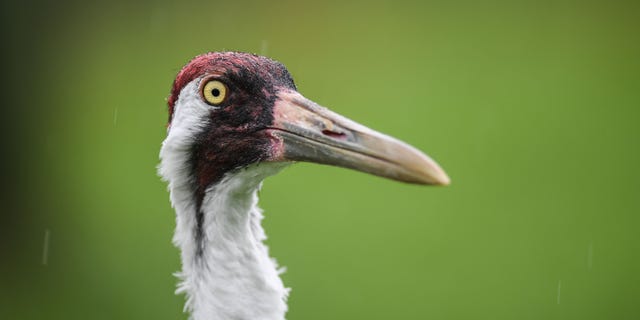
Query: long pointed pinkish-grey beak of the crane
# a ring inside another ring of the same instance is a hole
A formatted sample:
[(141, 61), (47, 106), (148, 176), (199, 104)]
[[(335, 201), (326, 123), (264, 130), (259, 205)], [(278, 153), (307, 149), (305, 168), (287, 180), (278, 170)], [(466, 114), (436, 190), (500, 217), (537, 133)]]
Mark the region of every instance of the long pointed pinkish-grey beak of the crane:
[(278, 141), (272, 161), (308, 161), (368, 172), (398, 181), (448, 185), (438, 164), (414, 147), (319, 106), (295, 91), (281, 91), (268, 129)]

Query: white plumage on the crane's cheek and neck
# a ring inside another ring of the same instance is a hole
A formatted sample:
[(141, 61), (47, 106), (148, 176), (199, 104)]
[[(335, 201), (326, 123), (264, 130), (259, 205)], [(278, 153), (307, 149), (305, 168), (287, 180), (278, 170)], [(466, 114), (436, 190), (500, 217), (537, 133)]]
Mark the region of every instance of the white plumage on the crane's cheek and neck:
[(177, 293), (187, 296), (192, 319), (284, 319), (286, 289), (263, 241), (257, 192), (262, 181), (287, 163), (261, 163), (228, 174), (208, 189), (202, 208), (205, 250), (196, 257), (196, 206), (189, 152), (204, 128), (210, 106), (197, 95), (197, 80), (180, 94), (172, 126), (160, 151), (159, 173), (169, 182), (176, 211), (173, 243), (182, 253)]

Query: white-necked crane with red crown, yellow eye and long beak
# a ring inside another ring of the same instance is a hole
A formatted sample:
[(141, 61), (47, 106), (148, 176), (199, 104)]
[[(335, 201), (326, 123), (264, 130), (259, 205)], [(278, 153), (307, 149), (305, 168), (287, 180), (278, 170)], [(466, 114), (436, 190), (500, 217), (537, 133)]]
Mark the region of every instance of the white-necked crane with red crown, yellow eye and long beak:
[(210, 52), (176, 76), (158, 172), (176, 211), (177, 293), (193, 320), (284, 319), (287, 289), (257, 206), (262, 181), (296, 161), (407, 183), (447, 185), (417, 149), (298, 93), (266, 57)]

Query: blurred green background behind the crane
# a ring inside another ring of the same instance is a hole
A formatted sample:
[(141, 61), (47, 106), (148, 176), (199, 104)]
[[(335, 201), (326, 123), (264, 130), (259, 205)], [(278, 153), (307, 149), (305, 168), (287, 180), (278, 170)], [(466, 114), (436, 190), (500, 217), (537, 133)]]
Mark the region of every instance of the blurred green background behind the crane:
[(261, 192), (288, 319), (638, 319), (640, 6), (2, 4), (0, 318), (186, 319), (165, 98), (193, 56), (283, 62), (447, 188), (298, 164)]

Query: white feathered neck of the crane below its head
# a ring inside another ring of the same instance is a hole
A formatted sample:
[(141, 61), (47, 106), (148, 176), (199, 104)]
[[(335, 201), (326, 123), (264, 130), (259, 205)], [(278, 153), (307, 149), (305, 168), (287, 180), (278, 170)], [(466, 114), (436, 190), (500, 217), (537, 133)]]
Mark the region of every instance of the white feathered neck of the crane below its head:
[(177, 292), (186, 294), (193, 320), (284, 319), (288, 289), (263, 243), (257, 206), (262, 180), (282, 167), (261, 164), (227, 174), (206, 190), (200, 206), (193, 192), (183, 194), (189, 188), (170, 185), (174, 243), (182, 251)]

